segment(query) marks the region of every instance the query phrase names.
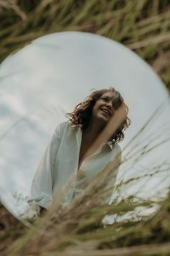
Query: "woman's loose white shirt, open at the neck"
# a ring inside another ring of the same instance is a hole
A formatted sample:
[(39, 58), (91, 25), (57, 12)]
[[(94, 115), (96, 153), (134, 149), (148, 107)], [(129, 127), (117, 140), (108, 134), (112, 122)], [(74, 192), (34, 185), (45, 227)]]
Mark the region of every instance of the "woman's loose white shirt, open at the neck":
[[(60, 191), (71, 186), (65, 201), (70, 201), (79, 192), (82, 184), (81, 179), (77, 179), (77, 174), (83, 172), (83, 178), (88, 183), (103, 168), (115, 158), (121, 160), (120, 146), (109, 142), (102, 145), (82, 163), (78, 171), (79, 151), (81, 147), (81, 128), (71, 127), (68, 121), (65, 121), (56, 127), (53, 137), (48, 145), (47, 150), (40, 161), (37, 168), (35, 178), (32, 181), (30, 197), (35, 200), (38, 205), (49, 208), (54, 197), (60, 195)], [(118, 168), (114, 168), (114, 176), (112, 178), (112, 186), (114, 186)], [(82, 178), (82, 177), (81, 177)]]

